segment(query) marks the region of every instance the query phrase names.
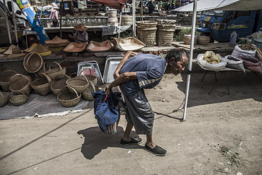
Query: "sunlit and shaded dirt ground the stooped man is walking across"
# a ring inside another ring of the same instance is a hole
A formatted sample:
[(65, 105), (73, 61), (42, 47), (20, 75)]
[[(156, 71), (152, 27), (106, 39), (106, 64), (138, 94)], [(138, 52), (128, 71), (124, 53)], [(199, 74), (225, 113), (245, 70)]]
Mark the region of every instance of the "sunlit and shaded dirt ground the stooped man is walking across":
[[(1, 120), (0, 174), (262, 174), (262, 76), (227, 72), (229, 95), (225, 82), (208, 94), (215, 77), (207, 74), (201, 82), (203, 75), (191, 75), (183, 122), (179, 119), (187, 74), (165, 75), (155, 89), (145, 90), (155, 112), (154, 142), (168, 152), (163, 157), (143, 149), (145, 135), (139, 135), (143, 139), (139, 145), (120, 145), (124, 116), (115, 135), (101, 133), (91, 101), (82, 113)], [(137, 136), (134, 129), (131, 136)], [(230, 166), (219, 146), (239, 153), (245, 166)]]

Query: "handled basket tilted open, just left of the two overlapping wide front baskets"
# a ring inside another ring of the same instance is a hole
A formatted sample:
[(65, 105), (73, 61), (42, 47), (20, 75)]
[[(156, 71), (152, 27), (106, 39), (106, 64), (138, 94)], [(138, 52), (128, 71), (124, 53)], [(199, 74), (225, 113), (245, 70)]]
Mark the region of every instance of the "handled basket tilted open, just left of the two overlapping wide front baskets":
[[(65, 74), (57, 74), (54, 77), (53, 82), (50, 86), (50, 89), (54, 92), (54, 94), (58, 95), (59, 93), (68, 91), (68, 89), (63, 88), (64, 86), (66, 86), (66, 81), (68, 80), (68, 78), (70, 79), (70, 77)], [(62, 88), (63, 91), (61, 91)]]

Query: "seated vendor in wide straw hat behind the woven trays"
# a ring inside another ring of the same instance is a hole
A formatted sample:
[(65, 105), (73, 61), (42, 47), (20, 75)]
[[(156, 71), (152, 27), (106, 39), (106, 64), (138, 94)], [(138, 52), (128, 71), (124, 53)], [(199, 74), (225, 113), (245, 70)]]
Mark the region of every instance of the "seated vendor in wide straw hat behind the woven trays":
[(78, 26), (74, 26), (74, 29), (77, 31), (74, 33), (73, 36), (68, 34), (69, 38), (76, 40), (76, 42), (78, 43), (86, 42), (88, 44), (88, 34), (86, 32), (88, 28), (85, 27), (84, 24), (78, 24)]

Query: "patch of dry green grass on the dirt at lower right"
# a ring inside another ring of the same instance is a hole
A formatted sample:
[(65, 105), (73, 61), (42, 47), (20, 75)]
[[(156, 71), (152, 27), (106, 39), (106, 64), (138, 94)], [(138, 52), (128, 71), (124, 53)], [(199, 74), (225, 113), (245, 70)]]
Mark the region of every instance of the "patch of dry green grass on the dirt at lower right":
[(238, 167), (238, 165), (244, 165), (244, 159), (239, 157), (238, 154), (233, 153), (229, 148), (227, 148), (226, 146), (220, 146), (218, 148), (218, 150), (220, 151), (220, 153), (222, 154), (222, 156), (226, 157), (226, 160), (229, 160), (231, 166), (236, 165)]

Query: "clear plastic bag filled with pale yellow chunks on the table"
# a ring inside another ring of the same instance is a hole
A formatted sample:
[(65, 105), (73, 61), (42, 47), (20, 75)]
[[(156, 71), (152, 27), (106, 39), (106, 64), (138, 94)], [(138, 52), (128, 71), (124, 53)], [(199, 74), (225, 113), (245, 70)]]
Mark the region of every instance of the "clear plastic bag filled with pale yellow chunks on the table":
[(212, 70), (219, 70), (226, 68), (226, 59), (219, 54), (215, 54), (213, 51), (207, 51), (205, 54), (199, 54), (197, 56), (197, 63), (201, 67), (205, 67)]

